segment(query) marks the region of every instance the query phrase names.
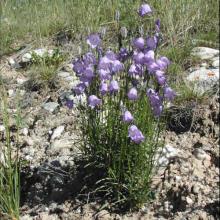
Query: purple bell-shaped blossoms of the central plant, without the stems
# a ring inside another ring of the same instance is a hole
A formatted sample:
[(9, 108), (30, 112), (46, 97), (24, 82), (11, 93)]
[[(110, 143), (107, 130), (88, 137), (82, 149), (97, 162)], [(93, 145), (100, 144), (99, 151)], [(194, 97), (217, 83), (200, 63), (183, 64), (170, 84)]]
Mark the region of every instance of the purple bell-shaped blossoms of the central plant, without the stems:
[[(152, 9), (148, 4), (143, 4), (139, 11), (141, 17), (148, 16)], [(166, 71), (170, 65), (168, 58), (156, 56), (156, 49), (160, 43), (160, 20), (155, 21), (155, 31), (151, 36), (137, 37), (132, 41), (132, 51), (121, 48), (118, 53), (112, 50), (103, 52), (99, 34), (91, 34), (87, 38), (90, 52), (74, 61), (73, 70), (79, 77), (79, 84), (73, 88), (75, 95), (88, 94), (89, 87), (95, 80), (98, 93), (89, 94), (88, 106), (96, 108), (102, 105), (104, 96), (115, 96), (120, 89), (120, 73), (126, 73), (130, 79), (126, 98), (135, 102), (141, 96), (140, 85), (145, 86), (145, 93), (149, 99), (155, 117), (163, 111), (165, 100), (172, 101), (175, 92), (168, 86)], [(143, 90), (143, 88), (142, 88)], [(72, 106), (72, 105), (71, 105)], [(132, 142), (140, 144), (145, 137), (133, 122), (134, 117), (128, 109), (122, 112), (122, 121), (131, 124), (128, 128), (128, 137)]]

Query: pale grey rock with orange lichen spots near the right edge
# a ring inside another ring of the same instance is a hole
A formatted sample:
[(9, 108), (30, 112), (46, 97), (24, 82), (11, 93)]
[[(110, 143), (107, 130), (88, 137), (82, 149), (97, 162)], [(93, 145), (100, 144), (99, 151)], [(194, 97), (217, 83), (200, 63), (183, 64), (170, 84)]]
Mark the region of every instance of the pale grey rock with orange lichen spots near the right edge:
[(213, 90), (219, 84), (219, 69), (200, 68), (190, 73), (186, 78), (186, 83), (198, 94)]

